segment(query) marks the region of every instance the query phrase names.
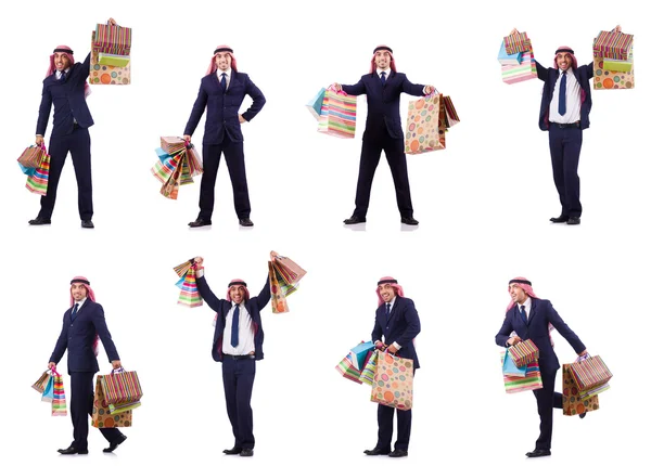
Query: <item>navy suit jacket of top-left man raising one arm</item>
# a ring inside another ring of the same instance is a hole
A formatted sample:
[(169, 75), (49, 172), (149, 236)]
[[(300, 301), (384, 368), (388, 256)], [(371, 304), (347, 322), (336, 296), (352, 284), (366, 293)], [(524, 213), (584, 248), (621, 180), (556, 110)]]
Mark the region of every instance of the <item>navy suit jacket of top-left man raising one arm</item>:
[(84, 63), (75, 63), (69, 67), (65, 83), (56, 79), (56, 73), (43, 79), (43, 94), (36, 124), (37, 134), (46, 135), (52, 104), (54, 104), (52, 138), (72, 133), (73, 117), (81, 128), (90, 128), (93, 125), (84, 96), (89, 69), (90, 53)]

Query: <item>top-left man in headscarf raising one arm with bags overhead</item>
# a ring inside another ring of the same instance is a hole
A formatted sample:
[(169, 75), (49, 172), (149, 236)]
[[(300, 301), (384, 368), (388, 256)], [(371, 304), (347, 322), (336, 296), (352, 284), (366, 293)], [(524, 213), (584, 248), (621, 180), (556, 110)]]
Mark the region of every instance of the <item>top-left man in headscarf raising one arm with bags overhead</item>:
[[(115, 20), (108, 18), (108, 24), (116, 25)], [(36, 125), (36, 144), (41, 145), (50, 119), (50, 111), (54, 105), (49, 147), (48, 192), (47, 195), (41, 196), (40, 211), (35, 219), (29, 220), (30, 225), (52, 223), (56, 189), (69, 152), (77, 178), (77, 204), (81, 228), (94, 228), (92, 223), (90, 134), (88, 132), (88, 128), (94, 122), (86, 103), (86, 98), (90, 94), (90, 87), (87, 82), (89, 73), (90, 53), (82, 63), (75, 62), (74, 52), (67, 46), (56, 47), (50, 55), (50, 66), (46, 79), (43, 79), (43, 91)]]

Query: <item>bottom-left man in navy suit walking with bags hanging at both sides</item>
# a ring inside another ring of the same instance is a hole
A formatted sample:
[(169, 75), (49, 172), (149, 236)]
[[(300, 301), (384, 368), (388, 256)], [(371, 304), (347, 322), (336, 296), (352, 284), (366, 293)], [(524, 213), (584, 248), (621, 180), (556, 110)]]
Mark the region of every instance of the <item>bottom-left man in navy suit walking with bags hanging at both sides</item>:
[[(84, 276), (75, 276), (71, 281), (71, 309), (63, 314), (63, 327), (56, 346), (50, 357), (50, 368), (63, 358), (67, 349), (67, 367), (71, 376), (71, 417), (75, 440), (67, 449), (59, 450), (64, 455), (88, 453), (88, 416), (92, 414), (94, 374), (98, 365), (98, 339), (102, 339), (104, 350), (113, 368), (122, 367), (119, 355), (111, 338), (104, 320), (104, 310), (94, 300), (90, 282)], [(101, 428), (108, 448), (105, 453), (114, 451), (127, 437), (116, 428)]]

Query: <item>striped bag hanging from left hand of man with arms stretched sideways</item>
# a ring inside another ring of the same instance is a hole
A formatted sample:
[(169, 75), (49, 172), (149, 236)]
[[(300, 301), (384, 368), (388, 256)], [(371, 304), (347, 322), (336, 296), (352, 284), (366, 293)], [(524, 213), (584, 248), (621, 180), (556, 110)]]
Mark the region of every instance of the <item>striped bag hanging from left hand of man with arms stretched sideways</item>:
[(336, 138), (355, 138), (356, 115), (357, 96), (328, 89), (317, 130)]

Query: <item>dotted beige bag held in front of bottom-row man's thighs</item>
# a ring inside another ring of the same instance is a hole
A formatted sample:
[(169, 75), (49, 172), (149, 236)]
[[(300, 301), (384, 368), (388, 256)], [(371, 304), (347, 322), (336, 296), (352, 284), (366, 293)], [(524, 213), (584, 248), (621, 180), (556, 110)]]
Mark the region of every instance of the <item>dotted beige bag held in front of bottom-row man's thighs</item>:
[(403, 411), (411, 410), (413, 361), (388, 352), (378, 352), (376, 364), (371, 401)]

